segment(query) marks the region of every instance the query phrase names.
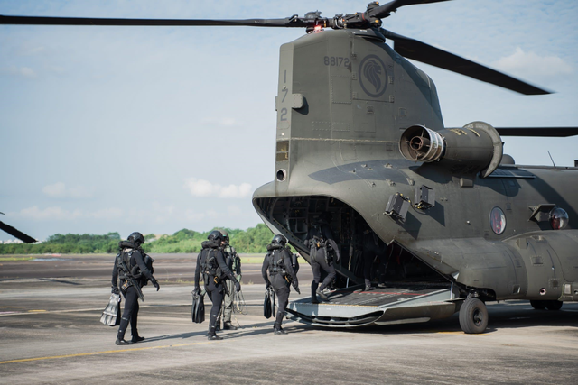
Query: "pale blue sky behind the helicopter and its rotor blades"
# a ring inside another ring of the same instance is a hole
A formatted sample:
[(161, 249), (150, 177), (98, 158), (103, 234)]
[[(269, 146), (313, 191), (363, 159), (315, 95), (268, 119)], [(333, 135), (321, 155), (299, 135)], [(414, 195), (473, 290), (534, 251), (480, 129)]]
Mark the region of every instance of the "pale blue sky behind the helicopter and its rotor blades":
[[(246, 19), (368, 1), (0, 0), (0, 14)], [(446, 127), (578, 125), (578, 2), (454, 0), (384, 28), (555, 91), (522, 96), (415, 62)], [(275, 173), (279, 46), (302, 29), (0, 26), (0, 220), (51, 234), (247, 228)], [(573, 166), (578, 137), (504, 137), (517, 164)], [(13, 239), (0, 232), (0, 240)]]

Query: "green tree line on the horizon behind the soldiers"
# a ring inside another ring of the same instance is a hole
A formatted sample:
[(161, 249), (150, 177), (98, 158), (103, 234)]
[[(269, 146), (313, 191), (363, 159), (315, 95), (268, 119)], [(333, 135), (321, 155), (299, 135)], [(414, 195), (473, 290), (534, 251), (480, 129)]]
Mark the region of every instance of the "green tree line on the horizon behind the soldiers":
[[(271, 242), (273, 233), (266, 225), (259, 224), (247, 230), (229, 229), (230, 243), (237, 252), (261, 253), (266, 252), (266, 245)], [(214, 229), (213, 229), (214, 230)], [(172, 253), (172, 252), (200, 252), (200, 243), (207, 240), (210, 232), (196, 232), (182, 229), (160, 238), (154, 234), (144, 235), (144, 252)], [(54, 234), (43, 243), (10, 243), (0, 244), (0, 254), (86, 254), (86, 253), (117, 253), (120, 234)]]

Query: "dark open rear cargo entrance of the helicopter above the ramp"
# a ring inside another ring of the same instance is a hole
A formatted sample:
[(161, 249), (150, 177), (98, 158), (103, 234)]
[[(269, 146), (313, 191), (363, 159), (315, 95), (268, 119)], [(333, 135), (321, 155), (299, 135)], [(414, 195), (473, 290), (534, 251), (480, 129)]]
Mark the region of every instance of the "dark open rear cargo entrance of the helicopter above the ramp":
[[(338, 275), (332, 289), (361, 285), (366, 277), (373, 286), (391, 287), (403, 282), (451, 285), (449, 280), (399, 243), (384, 243), (361, 215), (338, 199), (322, 196), (262, 197), (256, 198), (254, 204), (269, 228), (275, 234), (284, 234), (307, 261), (309, 250), (304, 241), (309, 226), (322, 213), (331, 213), (331, 231), (341, 254), (340, 261), (335, 264)], [(367, 263), (370, 266), (366, 268)]]

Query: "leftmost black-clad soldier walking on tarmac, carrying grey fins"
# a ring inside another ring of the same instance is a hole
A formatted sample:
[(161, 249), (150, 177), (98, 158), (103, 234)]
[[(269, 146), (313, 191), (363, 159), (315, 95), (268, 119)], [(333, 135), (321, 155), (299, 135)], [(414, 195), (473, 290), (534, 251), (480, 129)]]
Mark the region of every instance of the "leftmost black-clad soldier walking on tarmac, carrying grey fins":
[[(117, 345), (138, 343), (144, 337), (138, 335), (136, 322), (138, 318), (138, 298), (139, 292), (146, 282), (150, 280), (156, 291), (160, 285), (153, 277), (153, 259), (144, 254), (141, 245), (144, 243), (144, 236), (138, 232), (130, 234), (128, 240), (118, 243), (120, 252), (115, 259), (115, 267), (112, 270), (112, 292), (118, 294), (122, 291), (125, 296), (125, 311), (118, 326)], [(120, 289), (118, 289), (118, 279), (120, 279)], [(138, 285), (138, 288), (135, 287)], [(142, 295), (142, 294), (141, 294)], [(126, 327), (130, 322), (130, 330), (133, 338), (125, 341)]]

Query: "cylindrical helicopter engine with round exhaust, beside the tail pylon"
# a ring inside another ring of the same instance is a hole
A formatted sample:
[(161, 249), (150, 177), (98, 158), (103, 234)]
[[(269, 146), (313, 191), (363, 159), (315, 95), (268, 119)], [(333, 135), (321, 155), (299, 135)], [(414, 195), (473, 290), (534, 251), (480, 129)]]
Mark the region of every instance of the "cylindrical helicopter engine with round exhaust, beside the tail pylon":
[(485, 178), (499, 166), (502, 144), (498, 131), (484, 122), (438, 132), (424, 125), (413, 125), (402, 133), (399, 151), (406, 160), (426, 163), (439, 160), (440, 165), (464, 174), (481, 171), (481, 177)]

